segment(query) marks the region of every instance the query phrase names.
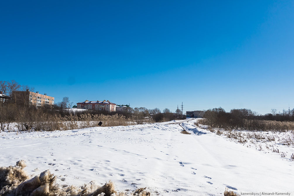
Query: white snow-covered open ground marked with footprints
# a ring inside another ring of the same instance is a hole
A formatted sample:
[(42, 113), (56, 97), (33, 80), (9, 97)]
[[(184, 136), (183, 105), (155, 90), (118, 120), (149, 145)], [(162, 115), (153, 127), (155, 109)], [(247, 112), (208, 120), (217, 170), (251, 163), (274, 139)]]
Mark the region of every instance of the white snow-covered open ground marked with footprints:
[[(148, 187), (151, 195), (223, 195), (288, 192), (293, 165), (279, 153), (260, 151), (223, 135), (154, 123), (54, 132), (1, 132), (0, 166), (26, 160), (31, 175), (50, 169), (61, 185), (111, 180), (118, 191)], [(275, 144), (279, 145), (279, 144)], [(278, 146), (282, 148), (282, 146)], [(293, 152), (293, 146), (283, 146)]]

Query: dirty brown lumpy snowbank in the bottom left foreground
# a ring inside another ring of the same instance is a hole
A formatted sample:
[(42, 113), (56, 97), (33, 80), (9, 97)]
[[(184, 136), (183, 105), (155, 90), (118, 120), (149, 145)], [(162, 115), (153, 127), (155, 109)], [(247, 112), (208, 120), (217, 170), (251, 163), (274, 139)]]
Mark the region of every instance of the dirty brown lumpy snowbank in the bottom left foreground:
[(117, 193), (113, 182), (109, 181), (99, 186), (94, 181), (80, 187), (60, 187), (55, 183), (56, 176), (49, 170), (41, 172), (31, 179), (24, 171), (26, 164), (23, 160), (18, 161), (16, 166), (0, 168), (0, 195), (14, 196), (124, 196), (138, 195), (150, 196), (146, 188), (136, 191)]

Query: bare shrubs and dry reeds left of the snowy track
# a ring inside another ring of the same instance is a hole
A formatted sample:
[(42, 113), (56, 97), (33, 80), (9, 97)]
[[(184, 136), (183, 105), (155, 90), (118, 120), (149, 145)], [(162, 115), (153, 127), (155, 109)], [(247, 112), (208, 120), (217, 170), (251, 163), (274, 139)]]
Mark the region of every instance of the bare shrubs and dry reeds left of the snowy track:
[[(15, 126), (21, 131), (54, 131), (95, 127), (99, 121), (103, 122), (103, 126), (126, 126), (183, 119), (183, 116), (177, 116), (176, 113), (150, 114), (146, 108), (128, 108), (122, 112), (76, 111), (65, 108), (65, 105), (59, 103), (36, 107), (20, 106), (14, 102), (0, 104), (0, 131), (13, 130)], [(11, 123), (15, 123), (14, 127)]]

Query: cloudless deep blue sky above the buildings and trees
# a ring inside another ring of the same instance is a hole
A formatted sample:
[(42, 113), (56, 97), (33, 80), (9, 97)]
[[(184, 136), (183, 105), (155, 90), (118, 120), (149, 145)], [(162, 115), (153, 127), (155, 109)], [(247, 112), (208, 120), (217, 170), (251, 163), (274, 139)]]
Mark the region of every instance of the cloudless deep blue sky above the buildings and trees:
[(74, 103), (294, 108), (294, 1), (1, 1), (0, 80)]

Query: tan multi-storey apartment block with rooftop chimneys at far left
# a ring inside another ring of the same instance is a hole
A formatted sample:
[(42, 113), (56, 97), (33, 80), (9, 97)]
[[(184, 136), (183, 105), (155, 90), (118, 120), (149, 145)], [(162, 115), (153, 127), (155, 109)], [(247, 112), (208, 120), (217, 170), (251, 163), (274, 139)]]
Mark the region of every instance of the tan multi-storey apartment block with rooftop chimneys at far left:
[(54, 105), (54, 97), (48, 96), (46, 93), (39, 94), (37, 91), (31, 92), (29, 89), (26, 91), (13, 91), (11, 96), (12, 101), (15, 101), (16, 104), (24, 105)]

